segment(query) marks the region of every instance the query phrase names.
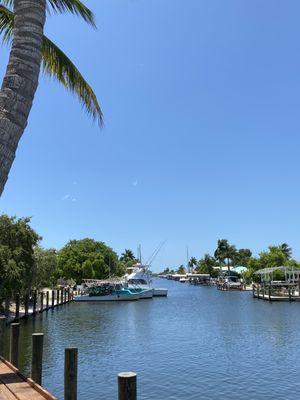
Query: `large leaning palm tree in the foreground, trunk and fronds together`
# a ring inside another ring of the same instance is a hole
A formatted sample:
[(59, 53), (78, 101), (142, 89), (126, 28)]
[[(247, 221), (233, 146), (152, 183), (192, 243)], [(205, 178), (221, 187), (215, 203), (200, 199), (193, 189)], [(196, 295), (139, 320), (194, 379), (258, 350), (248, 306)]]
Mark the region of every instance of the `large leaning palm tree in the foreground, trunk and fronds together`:
[(92, 12), (80, 0), (0, 0), (0, 34), (4, 41), (12, 41), (0, 91), (0, 196), (27, 126), (41, 62), (45, 73), (75, 93), (86, 111), (102, 121), (92, 88), (71, 60), (43, 35), (46, 3), (55, 12), (71, 12), (95, 26)]

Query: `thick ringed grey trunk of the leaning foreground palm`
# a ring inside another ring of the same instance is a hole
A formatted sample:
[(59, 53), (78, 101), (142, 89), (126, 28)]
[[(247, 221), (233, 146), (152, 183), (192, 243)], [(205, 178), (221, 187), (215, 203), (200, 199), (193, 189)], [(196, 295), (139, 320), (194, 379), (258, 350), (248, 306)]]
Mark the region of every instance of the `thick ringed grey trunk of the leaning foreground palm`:
[(46, 0), (14, 0), (14, 38), (0, 91), (0, 196), (38, 86)]

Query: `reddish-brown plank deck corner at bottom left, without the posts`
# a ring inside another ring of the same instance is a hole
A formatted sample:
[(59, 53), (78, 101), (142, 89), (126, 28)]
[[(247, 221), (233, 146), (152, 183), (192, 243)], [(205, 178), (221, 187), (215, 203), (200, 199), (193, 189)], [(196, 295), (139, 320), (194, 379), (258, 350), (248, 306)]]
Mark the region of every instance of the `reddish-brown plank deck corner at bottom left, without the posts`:
[(0, 400), (57, 400), (0, 357)]

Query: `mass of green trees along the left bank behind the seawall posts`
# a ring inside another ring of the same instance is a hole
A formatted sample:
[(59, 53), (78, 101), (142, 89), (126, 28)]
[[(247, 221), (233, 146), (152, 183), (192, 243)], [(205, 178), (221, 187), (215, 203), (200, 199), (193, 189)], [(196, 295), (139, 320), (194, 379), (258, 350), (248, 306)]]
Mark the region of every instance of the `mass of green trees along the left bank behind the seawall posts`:
[(70, 240), (59, 250), (41, 247), (41, 239), (30, 218), (0, 216), (0, 314), (10, 314), (17, 296), (32, 299), (35, 291), (74, 287), (85, 278), (121, 277), (137, 262), (131, 250), (119, 257), (90, 238)]

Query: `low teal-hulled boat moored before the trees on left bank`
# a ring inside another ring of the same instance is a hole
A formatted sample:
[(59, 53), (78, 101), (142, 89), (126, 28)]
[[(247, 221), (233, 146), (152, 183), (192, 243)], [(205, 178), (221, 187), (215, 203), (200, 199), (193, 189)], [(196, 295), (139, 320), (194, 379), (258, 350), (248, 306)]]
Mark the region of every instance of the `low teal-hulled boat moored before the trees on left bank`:
[(75, 301), (133, 301), (139, 300), (141, 293), (132, 292), (121, 284), (103, 283), (88, 288), (88, 293), (76, 296)]

